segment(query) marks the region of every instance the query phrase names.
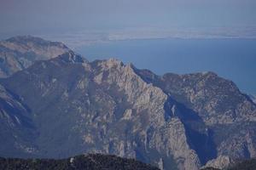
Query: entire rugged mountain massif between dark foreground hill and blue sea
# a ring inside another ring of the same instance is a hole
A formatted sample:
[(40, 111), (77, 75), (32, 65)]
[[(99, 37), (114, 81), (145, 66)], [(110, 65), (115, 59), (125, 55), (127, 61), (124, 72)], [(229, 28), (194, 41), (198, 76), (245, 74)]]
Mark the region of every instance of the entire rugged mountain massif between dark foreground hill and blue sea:
[(0, 156), (99, 151), (166, 170), (256, 156), (256, 105), (212, 72), (160, 77), (68, 51), (0, 84)]

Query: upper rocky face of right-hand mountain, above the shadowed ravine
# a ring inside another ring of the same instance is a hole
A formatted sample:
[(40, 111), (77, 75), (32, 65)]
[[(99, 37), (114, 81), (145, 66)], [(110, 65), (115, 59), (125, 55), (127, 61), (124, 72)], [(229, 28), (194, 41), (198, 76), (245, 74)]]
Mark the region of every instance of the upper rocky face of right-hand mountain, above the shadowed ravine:
[(163, 77), (138, 71), (148, 82), (153, 82), (178, 102), (197, 112), (208, 125), (232, 122), (255, 122), (256, 106), (241, 94), (234, 82), (218, 77), (213, 72)]

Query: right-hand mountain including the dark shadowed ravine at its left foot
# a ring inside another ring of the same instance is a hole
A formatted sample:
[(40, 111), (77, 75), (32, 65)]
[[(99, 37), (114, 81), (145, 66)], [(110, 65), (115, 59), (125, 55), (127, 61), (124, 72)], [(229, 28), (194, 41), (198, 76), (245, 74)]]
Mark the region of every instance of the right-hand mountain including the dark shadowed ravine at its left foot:
[[(247, 95), (241, 94), (233, 82), (212, 72), (189, 75), (168, 73), (163, 77), (147, 70), (137, 70), (137, 73), (200, 117), (191, 122), (187, 120), (188, 111), (177, 112), (185, 126), (189, 127), (187, 132), (192, 129), (189, 135), (192, 147), (202, 155), (203, 164), (223, 168), (232, 159), (256, 156), (256, 105)], [(199, 120), (203, 122), (201, 125)], [(193, 131), (201, 132), (201, 135), (196, 137)], [(206, 142), (210, 144), (206, 145)], [(209, 160), (212, 157), (216, 159)]]

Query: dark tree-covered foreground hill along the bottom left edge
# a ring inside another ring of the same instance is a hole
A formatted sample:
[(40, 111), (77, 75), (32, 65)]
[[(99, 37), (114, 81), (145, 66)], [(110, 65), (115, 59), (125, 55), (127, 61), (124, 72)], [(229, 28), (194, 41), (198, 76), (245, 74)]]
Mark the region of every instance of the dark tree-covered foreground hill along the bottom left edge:
[(44, 169), (44, 170), (158, 170), (140, 161), (120, 158), (117, 156), (103, 156), (101, 154), (90, 154), (84, 156), (75, 156), (62, 160), (53, 159), (11, 159), (0, 158), (0, 169), (8, 170), (26, 170), (26, 169)]

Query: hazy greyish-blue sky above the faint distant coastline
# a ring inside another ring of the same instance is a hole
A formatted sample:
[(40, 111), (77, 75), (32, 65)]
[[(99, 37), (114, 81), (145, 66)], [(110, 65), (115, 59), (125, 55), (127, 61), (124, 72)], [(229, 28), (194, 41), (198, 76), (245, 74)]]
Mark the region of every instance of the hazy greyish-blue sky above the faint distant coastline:
[(0, 0), (0, 33), (251, 27), (255, 0)]

